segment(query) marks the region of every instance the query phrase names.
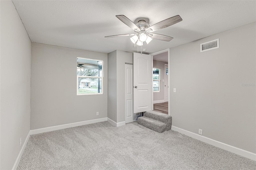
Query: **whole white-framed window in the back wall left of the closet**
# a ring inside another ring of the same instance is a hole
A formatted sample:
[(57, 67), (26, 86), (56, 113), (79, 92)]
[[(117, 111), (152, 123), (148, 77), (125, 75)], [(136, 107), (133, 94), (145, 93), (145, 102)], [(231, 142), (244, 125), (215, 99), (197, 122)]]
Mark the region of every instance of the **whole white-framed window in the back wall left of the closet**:
[(103, 61), (77, 58), (77, 95), (102, 94)]

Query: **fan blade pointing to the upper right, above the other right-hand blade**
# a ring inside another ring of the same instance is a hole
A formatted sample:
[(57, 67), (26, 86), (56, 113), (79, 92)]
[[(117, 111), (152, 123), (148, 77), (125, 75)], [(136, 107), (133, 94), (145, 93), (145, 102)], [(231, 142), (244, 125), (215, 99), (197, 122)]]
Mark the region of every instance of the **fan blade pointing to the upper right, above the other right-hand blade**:
[(180, 21), (182, 21), (182, 18), (180, 18), (179, 15), (178, 16), (174, 16), (174, 17), (171, 17), (171, 18), (168, 18), (166, 20), (160, 21), (160, 22), (158, 22), (158, 23), (148, 27), (146, 29), (146, 31), (148, 31), (148, 32), (157, 31), (159, 29), (163, 29), (163, 28), (169, 27), (170, 25), (173, 25), (173, 24), (178, 23)]

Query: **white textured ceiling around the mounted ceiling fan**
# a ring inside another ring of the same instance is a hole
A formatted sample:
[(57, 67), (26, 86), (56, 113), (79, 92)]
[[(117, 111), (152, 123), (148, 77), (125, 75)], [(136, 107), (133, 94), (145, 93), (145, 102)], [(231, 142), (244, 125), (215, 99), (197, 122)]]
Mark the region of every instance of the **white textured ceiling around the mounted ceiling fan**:
[(180, 15), (183, 21), (155, 31), (174, 39), (153, 39), (146, 53), (175, 47), (256, 21), (256, 1), (56, 1), (18, 0), (14, 5), (32, 42), (102, 53), (136, 52), (129, 37), (104, 38), (134, 33), (116, 18), (132, 21), (149, 18), (149, 24)]

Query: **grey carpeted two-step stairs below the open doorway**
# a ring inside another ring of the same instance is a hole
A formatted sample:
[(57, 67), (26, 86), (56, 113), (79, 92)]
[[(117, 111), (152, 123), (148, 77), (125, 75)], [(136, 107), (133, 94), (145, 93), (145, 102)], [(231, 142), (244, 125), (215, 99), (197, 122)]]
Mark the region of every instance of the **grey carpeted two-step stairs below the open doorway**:
[(172, 116), (157, 111), (146, 111), (142, 117), (138, 117), (138, 123), (162, 133), (172, 128)]

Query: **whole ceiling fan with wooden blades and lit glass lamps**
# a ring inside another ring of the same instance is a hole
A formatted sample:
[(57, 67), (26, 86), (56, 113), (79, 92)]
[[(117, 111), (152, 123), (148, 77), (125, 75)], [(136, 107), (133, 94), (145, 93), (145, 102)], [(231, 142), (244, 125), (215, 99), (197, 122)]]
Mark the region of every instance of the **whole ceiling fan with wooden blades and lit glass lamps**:
[(132, 43), (136, 43), (138, 46), (142, 46), (143, 42), (146, 41), (146, 43), (150, 43), (152, 39), (158, 39), (162, 41), (171, 41), (173, 37), (169, 37), (167, 35), (161, 35), (161, 34), (156, 34), (152, 33), (154, 31), (157, 31), (159, 29), (163, 29), (166, 27), (169, 27), (170, 25), (173, 25), (175, 23), (178, 23), (182, 21), (182, 18), (177, 15), (171, 18), (168, 18), (166, 20), (160, 21), (154, 25), (149, 25), (146, 23), (145, 20), (138, 20), (138, 23), (132, 22), (129, 18), (127, 18), (124, 15), (118, 15), (116, 16), (120, 21), (125, 23), (128, 27), (132, 28), (135, 33), (131, 34), (121, 34), (121, 35), (111, 35), (111, 36), (106, 36), (106, 38), (113, 38), (113, 37), (124, 37), (124, 36), (132, 36), (130, 39)]

